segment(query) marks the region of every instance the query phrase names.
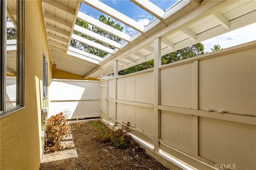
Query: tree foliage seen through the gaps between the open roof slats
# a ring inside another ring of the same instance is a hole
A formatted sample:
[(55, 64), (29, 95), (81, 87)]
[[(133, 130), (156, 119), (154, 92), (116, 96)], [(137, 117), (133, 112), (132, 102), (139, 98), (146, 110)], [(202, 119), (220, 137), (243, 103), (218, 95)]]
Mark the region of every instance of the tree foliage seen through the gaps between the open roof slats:
[[(100, 22), (103, 22), (104, 24), (107, 24), (110, 27), (113, 27), (113, 28), (115, 28), (115, 29), (117, 29), (119, 31), (123, 30), (123, 27), (121, 27), (120, 24), (115, 24), (115, 21), (111, 21), (111, 19), (109, 17), (107, 18), (105, 15), (100, 15), (100, 17), (98, 19), (99, 19)], [(107, 33), (106, 31), (103, 31), (103, 30), (98, 29), (96, 27), (91, 27), (90, 28), (89, 25), (86, 22), (83, 22), (83, 21), (81, 21), (79, 19), (76, 19), (76, 25), (79, 25), (80, 27), (83, 27), (85, 29), (89, 29), (90, 31), (93, 31), (94, 33), (100, 34), (100, 35), (102, 35), (102, 36), (104, 36), (106, 38), (109, 38), (110, 40), (113, 40), (115, 42), (121, 43), (121, 39), (120, 38), (118, 38), (116, 36), (113, 36), (113, 35)], [(81, 33), (76, 32), (76, 31), (74, 31), (74, 34), (82, 36), (83, 38), (86, 38), (86, 39), (91, 40), (93, 42), (99, 43), (101, 45), (104, 45), (104, 46), (106, 46), (108, 48), (111, 48), (111, 49), (115, 48), (115, 47), (112, 47), (111, 45), (108, 45), (106, 43), (100, 42), (100, 41), (98, 41), (98, 40), (96, 40), (94, 38), (91, 38), (89, 36), (85, 36), (85, 35), (83, 35)], [(87, 44), (80, 43), (80, 42), (78, 42), (76, 40), (71, 40), (70, 41), (70, 46), (71, 47), (75, 47), (75, 48), (80, 49), (80, 50), (85, 51), (85, 52), (89, 52), (91, 54), (94, 54), (94, 55), (102, 57), (102, 58), (104, 56), (106, 56), (106, 54), (108, 54), (105, 51), (101, 51), (101, 50), (96, 49), (94, 47), (91, 47), (91, 46), (89, 46)]]

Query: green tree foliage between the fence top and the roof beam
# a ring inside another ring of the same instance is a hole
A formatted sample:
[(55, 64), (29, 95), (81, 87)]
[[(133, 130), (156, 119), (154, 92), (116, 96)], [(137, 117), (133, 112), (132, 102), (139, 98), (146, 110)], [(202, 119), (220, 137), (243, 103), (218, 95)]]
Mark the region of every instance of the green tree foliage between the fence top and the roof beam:
[[(173, 63), (175, 61), (184, 60), (184, 59), (202, 55), (202, 54), (204, 54), (204, 45), (202, 43), (197, 43), (189, 47), (185, 47), (183, 49), (163, 55), (161, 57), (161, 65)], [(153, 67), (154, 67), (154, 59), (146, 61), (139, 65), (135, 65), (133, 67), (124, 69), (122, 71), (119, 71), (119, 75), (130, 74), (133, 72), (142, 71), (142, 70), (150, 69)]]

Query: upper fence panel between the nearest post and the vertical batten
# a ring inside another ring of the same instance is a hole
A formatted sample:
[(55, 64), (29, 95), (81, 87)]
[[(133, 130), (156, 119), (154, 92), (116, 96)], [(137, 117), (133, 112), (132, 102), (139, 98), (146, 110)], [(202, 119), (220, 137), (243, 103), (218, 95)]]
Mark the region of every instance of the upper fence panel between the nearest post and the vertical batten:
[(193, 108), (193, 63), (160, 70), (161, 105)]

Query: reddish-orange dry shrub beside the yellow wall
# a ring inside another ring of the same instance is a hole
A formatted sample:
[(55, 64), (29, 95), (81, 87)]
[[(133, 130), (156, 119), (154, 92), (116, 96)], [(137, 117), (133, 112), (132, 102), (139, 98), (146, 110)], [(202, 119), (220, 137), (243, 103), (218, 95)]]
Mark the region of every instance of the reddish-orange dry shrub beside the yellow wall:
[(55, 152), (59, 147), (59, 141), (70, 134), (70, 126), (67, 124), (67, 119), (63, 116), (63, 112), (51, 116), (45, 128), (46, 143), (50, 146), (54, 145)]

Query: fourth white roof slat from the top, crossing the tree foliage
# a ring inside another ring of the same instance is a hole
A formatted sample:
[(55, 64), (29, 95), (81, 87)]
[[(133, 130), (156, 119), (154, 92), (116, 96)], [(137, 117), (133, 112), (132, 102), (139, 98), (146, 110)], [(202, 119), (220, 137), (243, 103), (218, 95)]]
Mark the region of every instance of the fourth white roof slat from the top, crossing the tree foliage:
[(106, 43), (108, 45), (111, 45), (113, 47), (116, 47), (118, 49), (121, 48), (121, 44), (118, 42), (115, 42), (113, 40), (110, 40), (109, 38), (106, 38), (100, 34), (94, 33), (93, 31), (90, 31), (89, 29), (85, 29), (83, 27), (80, 27), (78, 25), (74, 25), (74, 31), (77, 31), (78, 33), (84, 34), (86, 36), (89, 36), (91, 38), (94, 38), (96, 40), (99, 40), (100, 42)]

